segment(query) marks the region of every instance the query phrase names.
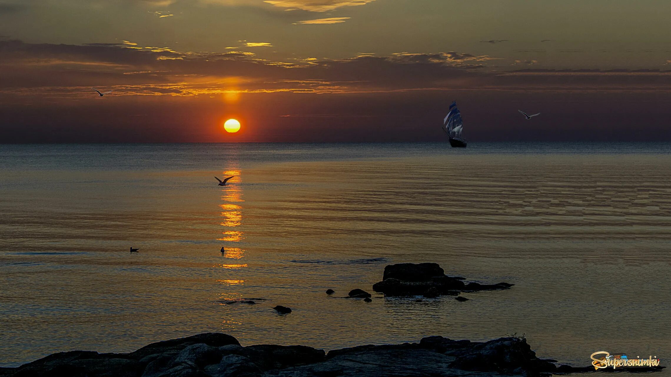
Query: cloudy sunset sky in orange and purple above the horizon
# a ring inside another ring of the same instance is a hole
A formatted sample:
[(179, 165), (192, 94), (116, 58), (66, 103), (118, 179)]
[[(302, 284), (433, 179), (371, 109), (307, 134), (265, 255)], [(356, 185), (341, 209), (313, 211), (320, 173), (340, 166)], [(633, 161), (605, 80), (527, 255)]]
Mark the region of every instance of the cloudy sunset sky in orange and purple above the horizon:
[(0, 143), (445, 141), (455, 99), (468, 140), (671, 140), (668, 19), (668, 0), (0, 0)]

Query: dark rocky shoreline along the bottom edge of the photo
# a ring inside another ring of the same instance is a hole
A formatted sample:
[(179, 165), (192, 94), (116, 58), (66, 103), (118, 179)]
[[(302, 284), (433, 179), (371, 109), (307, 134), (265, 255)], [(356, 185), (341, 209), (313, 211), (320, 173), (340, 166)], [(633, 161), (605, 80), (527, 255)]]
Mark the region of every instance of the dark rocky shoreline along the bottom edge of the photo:
[(410, 377), (540, 376), (589, 372), (542, 360), (521, 337), (486, 342), (425, 337), (419, 343), (323, 349), (248, 345), (224, 333), (160, 341), (129, 354), (60, 352), (0, 376), (28, 377)]

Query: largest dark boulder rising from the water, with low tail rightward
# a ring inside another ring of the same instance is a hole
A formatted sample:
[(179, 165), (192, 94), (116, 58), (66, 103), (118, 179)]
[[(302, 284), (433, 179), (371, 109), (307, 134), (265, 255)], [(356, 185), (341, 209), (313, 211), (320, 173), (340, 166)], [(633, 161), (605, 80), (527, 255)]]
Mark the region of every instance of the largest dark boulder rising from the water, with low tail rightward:
[(507, 289), (514, 284), (464, 283), (462, 277), (447, 276), (437, 263), (399, 263), (384, 268), (382, 281), (373, 284), (373, 290), (390, 296), (458, 294), (462, 291)]

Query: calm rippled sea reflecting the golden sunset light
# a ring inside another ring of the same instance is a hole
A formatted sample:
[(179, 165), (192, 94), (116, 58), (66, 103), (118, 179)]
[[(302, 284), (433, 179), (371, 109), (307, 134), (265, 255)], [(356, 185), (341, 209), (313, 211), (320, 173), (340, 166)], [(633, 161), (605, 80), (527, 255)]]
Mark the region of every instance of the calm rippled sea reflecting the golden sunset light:
[[(0, 366), (207, 331), (325, 349), (524, 333), (573, 365), (669, 365), (670, 167), (671, 144), (0, 145)], [(516, 285), (341, 298), (399, 262)]]

